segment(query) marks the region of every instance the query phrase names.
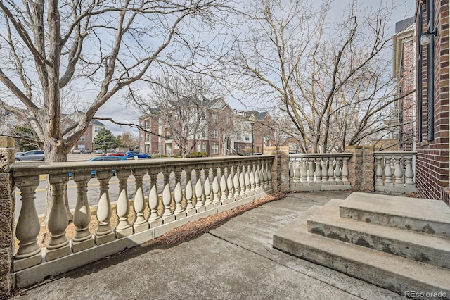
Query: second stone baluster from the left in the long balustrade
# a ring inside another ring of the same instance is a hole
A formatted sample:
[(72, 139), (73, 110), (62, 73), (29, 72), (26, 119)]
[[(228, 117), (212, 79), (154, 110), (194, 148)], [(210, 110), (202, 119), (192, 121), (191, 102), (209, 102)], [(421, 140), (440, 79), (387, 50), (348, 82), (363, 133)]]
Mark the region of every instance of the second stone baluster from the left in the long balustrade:
[(65, 191), (69, 175), (49, 175), (51, 185), (51, 201), (49, 223), (47, 228), (50, 232), (49, 244), (46, 245), (46, 261), (68, 256), (70, 254), (69, 240), (65, 236), (65, 229), (69, 225), (68, 214), (65, 211)]

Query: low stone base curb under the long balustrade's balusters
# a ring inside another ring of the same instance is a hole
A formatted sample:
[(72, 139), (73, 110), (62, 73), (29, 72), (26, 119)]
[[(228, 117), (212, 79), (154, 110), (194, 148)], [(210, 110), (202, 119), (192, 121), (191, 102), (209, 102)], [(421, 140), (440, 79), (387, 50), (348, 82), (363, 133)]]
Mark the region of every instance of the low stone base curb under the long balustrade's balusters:
[[(273, 189), (266, 189), (265, 191), (261, 191), (254, 195), (249, 194), (248, 196), (243, 196), (239, 200), (231, 201), (228, 204), (217, 204), (217, 206), (212, 206), (212, 208), (209, 210), (206, 210), (205, 206), (203, 206), (204, 209), (201, 212), (195, 213), (193, 215), (188, 215), (185, 218), (175, 218), (174, 221), (169, 223), (162, 223), (162, 220), (149, 221), (150, 229), (148, 230), (137, 232), (133, 235), (122, 237), (121, 239), (114, 239), (112, 242), (107, 242), (105, 244), (97, 243), (97, 246), (95, 247), (72, 253), (69, 256), (57, 258), (53, 261), (46, 261), (45, 263), (34, 265), (31, 268), (26, 268), (24, 270), (15, 272), (13, 273), (12, 287), (14, 289), (18, 289), (32, 285), (35, 282), (41, 282), (45, 280), (46, 277), (65, 273), (82, 265), (98, 261), (101, 258), (117, 254), (124, 249), (139, 246), (140, 244), (149, 242), (157, 237), (165, 235), (165, 233), (169, 232), (175, 227), (179, 227), (200, 218), (206, 218), (207, 216), (214, 215), (215, 213), (229, 211), (243, 204), (248, 204), (262, 196), (271, 194), (272, 192), (274, 192)], [(195, 212), (195, 209), (193, 209), (192, 211)], [(45, 257), (46, 249), (43, 249), (42, 254), (39, 256), (39, 261), (45, 261)]]

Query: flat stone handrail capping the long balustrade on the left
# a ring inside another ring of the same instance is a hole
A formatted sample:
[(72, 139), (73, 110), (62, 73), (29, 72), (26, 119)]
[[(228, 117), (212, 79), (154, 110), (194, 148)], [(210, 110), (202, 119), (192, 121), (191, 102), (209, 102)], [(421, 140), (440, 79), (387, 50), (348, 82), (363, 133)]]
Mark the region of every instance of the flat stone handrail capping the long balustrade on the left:
[(60, 163), (15, 163), (11, 165), (14, 176), (37, 175), (54, 173), (68, 173), (72, 170), (102, 170), (103, 168), (114, 167), (117, 170), (124, 168), (176, 168), (190, 167), (195, 168), (198, 165), (233, 165), (243, 161), (267, 161), (273, 159), (273, 155), (262, 156), (219, 156), (219, 157), (201, 157), (201, 158), (148, 158), (127, 161), (74, 161)]

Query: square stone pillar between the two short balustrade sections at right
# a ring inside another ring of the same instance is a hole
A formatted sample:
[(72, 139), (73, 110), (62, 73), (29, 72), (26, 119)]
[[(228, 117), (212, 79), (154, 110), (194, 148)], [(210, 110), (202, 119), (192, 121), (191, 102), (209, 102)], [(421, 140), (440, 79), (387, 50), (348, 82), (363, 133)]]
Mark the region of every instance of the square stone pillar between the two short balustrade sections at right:
[(348, 162), (349, 182), (354, 191), (373, 192), (375, 190), (375, 158), (373, 146), (345, 146), (351, 153)]

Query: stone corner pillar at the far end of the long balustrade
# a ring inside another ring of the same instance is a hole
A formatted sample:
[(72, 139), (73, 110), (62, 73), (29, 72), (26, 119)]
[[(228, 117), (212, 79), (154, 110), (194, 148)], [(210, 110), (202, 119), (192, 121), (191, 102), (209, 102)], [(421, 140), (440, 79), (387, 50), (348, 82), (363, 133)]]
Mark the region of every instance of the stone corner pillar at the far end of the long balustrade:
[(276, 192), (290, 192), (289, 147), (264, 147), (264, 154), (274, 155), (272, 164), (272, 186)]

